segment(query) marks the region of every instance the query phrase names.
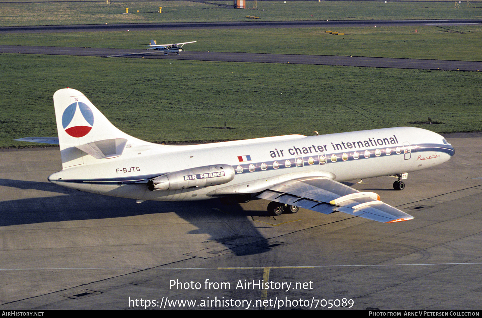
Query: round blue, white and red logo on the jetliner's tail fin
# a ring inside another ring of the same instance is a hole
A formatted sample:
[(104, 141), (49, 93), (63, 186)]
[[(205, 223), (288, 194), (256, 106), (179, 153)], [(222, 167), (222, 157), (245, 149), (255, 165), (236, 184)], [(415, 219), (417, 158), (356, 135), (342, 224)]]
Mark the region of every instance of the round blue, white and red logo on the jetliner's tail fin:
[(84, 137), (94, 126), (94, 114), (86, 104), (82, 102), (72, 103), (62, 114), (62, 126), (70, 136)]

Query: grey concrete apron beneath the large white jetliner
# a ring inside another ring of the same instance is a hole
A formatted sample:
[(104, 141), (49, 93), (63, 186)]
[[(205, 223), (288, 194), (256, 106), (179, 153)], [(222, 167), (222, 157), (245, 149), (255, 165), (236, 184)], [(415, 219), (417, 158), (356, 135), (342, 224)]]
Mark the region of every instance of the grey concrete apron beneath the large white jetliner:
[(58, 148), (1, 150), (0, 309), (480, 309), (481, 137), (447, 135), (455, 156), (404, 191), (353, 184), (416, 217), (399, 223), (136, 204), (49, 183)]

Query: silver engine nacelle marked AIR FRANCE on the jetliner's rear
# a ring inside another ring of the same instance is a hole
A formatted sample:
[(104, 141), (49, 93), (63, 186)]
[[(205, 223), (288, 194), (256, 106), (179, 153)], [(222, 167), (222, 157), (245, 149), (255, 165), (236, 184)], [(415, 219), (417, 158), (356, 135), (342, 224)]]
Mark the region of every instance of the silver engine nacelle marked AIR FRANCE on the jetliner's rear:
[(147, 188), (155, 190), (180, 190), (224, 184), (234, 179), (234, 169), (229, 165), (201, 166), (166, 173), (147, 181)]

